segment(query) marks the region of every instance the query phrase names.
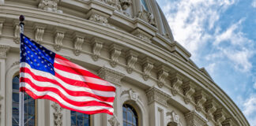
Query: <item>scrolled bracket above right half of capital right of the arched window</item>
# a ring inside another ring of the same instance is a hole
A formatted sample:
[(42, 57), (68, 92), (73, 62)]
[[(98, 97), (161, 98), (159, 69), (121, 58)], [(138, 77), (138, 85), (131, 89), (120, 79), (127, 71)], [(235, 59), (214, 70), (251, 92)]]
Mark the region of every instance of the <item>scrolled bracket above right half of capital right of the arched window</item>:
[(159, 71), (157, 72), (157, 85), (158, 87), (162, 88), (165, 84), (165, 79), (168, 77), (168, 67), (165, 65), (161, 65), (159, 68)]

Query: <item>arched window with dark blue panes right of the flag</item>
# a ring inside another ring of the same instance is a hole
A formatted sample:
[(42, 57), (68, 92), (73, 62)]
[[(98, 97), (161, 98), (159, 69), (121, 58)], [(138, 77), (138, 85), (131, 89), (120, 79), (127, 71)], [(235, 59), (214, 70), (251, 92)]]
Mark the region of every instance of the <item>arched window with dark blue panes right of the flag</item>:
[(123, 126), (138, 126), (137, 112), (129, 104), (122, 105), (122, 124)]

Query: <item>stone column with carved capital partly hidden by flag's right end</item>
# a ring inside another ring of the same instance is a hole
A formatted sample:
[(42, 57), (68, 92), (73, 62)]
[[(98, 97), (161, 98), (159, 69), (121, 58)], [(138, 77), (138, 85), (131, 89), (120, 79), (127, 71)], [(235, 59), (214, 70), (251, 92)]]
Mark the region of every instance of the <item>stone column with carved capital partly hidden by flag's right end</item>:
[[(115, 84), (116, 91), (115, 91), (115, 102), (114, 102), (114, 117), (111, 117), (107, 113), (101, 113), (101, 119), (102, 119), (102, 126), (118, 126), (119, 120), (122, 118), (122, 105), (119, 105), (120, 103), (120, 95), (121, 95), (121, 80), (122, 77), (125, 75), (121, 72), (116, 72), (113, 69), (108, 69), (106, 67), (103, 67), (98, 72), (98, 75), (104, 79), (107, 80), (110, 83)], [(114, 123), (113, 123), (114, 122)]]

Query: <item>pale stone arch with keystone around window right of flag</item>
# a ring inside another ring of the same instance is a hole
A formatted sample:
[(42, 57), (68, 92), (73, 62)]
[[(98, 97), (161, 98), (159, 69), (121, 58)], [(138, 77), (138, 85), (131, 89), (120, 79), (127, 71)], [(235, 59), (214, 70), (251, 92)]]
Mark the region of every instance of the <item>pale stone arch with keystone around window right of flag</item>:
[[(139, 98), (137, 92), (133, 91), (132, 89), (128, 91), (122, 91), (120, 104), (121, 105), (129, 104), (130, 106), (133, 106), (138, 114), (139, 125), (141, 126), (147, 125), (146, 120), (148, 119), (149, 114), (145, 109), (145, 105)], [(120, 121), (121, 121), (120, 124), (122, 125), (122, 120)]]

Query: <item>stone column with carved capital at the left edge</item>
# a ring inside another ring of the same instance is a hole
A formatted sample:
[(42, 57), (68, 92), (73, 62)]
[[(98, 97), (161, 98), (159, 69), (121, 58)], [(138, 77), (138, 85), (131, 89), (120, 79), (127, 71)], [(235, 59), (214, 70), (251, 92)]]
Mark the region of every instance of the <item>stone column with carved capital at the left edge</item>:
[(0, 45), (0, 125), (6, 125), (6, 54), (8, 51), (9, 46)]

